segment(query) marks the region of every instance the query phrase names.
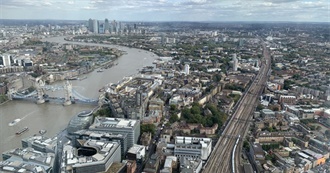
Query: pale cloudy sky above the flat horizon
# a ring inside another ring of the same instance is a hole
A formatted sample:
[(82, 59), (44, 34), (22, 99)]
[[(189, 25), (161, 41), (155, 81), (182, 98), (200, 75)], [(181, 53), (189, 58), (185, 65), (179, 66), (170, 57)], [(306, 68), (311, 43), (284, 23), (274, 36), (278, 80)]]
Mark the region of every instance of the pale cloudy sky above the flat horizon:
[(330, 0), (0, 0), (0, 19), (330, 22)]

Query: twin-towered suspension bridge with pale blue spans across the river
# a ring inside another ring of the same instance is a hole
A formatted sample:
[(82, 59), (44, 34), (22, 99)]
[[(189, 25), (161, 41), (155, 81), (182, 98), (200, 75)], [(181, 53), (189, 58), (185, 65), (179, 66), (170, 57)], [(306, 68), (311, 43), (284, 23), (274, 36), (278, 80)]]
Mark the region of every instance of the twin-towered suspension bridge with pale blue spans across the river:
[[(84, 97), (78, 91), (74, 90), (72, 84), (69, 81), (66, 81), (64, 86), (60, 85), (45, 85), (45, 82), (40, 79), (36, 78), (34, 80), (34, 86), (36, 88), (35, 91), (24, 94), (17, 92), (15, 89), (10, 88), (8, 91), (8, 98), (10, 100), (27, 100), (27, 101), (34, 101), (37, 104), (42, 104), (45, 102), (52, 102), (63, 104), (64, 106), (68, 106), (74, 103), (78, 104), (91, 104), (91, 105), (98, 105), (102, 104), (103, 96), (100, 96), (99, 99), (90, 99)], [(50, 97), (46, 94), (48, 90), (64, 90), (64, 97)]]

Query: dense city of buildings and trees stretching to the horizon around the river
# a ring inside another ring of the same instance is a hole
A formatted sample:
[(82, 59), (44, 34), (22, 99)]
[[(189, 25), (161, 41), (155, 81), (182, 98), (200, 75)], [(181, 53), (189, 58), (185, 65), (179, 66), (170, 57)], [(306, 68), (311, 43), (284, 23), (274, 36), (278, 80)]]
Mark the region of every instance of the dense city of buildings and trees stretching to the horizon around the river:
[[(57, 136), (18, 131), (22, 147), (2, 153), (0, 172), (329, 172), (329, 39), (326, 23), (0, 23), (2, 104), (53, 104), (43, 89), (58, 81), (61, 104), (95, 104)], [(79, 100), (70, 81), (126, 52), (70, 42), (157, 57)]]

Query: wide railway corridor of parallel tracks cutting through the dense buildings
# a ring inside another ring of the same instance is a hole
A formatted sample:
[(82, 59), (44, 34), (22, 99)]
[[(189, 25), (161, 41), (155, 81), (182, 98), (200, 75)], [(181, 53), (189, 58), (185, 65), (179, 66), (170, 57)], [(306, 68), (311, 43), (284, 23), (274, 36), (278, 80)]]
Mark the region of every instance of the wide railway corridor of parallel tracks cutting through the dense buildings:
[[(235, 112), (228, 120), (226, 128), (222, 132), (211, 156), (203, 167), (204, 173), (242, 172), (240, 166), (242, 139), (244, 139), (246, 132), (249, 130), (252, 114), (258, 104), (258, 96), (263, 92), (270, 70), (270, 53), (265, 44), (263, 44), (263, 49), (263, 59), (259, 73), (238, 103)], [(242, 123), (240, 120), (247, 121)], [(231, 166), (231, 155), (233, 154), (232, 151), (239, 135), (241, 139), (234, 153), (235, 166), (233, 170)]]

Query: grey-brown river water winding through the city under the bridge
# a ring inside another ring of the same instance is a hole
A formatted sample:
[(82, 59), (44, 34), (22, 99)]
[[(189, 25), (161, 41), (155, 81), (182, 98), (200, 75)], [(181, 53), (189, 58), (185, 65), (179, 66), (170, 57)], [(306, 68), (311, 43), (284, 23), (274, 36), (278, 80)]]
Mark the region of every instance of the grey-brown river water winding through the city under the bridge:
[[(44, 41), (56, 42), (60, 44), (78, 44), (86, 46), (104, 46), (115, 47), (125, 51), (127, 54), (122, 55), (116, 60), (115, 65), (108, 69), (103, 69), (103, 72), (93, 71), (84, 80), (71, 81), (73, 89), (79, 94), (97, 99), (99, 96), (99, 89), (108, 83), (117, 83), (125, 76), (136, 74), (138, 69), (143, 66), (150, 66), (157, 58), (157, 55), (140, 49), (128, 48), (116, 45), (95, 44), (95, 43), (80, 43), (80, 42), (67, 42), (64, 37), (46, 38)], [(62, 82), (56, 83), (62, 85)], [(50, 96), (64, 97), (63, 91), (46, 91)], [(90, 110), (94, 108), (90, 105), (70, 105), (62, 106), (60, 104), (45, 103), (37, 105), (33, 102), (27, 101), (10, 101), (0, 105), (0, 153), (21, 147), (21, 139), (37, 134), (39, 130), (46, 129), (45, 136), (53, 137), (58, 132), (63, 130), (72, 116), (83, 110)], [(21, 119), (13, 126), (9, 123), (15, 119)], [(29, 131), (23, 133), (21, 136), (16, 136), (15, 132), (20, 129), (28, 127)], [(2, 160), (2, 158), (0, 159)]]

